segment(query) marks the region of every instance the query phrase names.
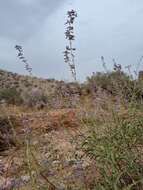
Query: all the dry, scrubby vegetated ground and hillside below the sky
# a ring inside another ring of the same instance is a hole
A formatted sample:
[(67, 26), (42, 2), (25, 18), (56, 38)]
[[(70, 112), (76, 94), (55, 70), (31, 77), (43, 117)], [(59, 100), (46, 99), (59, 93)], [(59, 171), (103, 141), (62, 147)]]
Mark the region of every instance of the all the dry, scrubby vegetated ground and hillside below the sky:
[(143, 189), (141, 79), (121, 70), (84, 84), (0, 74), (1, 190)]

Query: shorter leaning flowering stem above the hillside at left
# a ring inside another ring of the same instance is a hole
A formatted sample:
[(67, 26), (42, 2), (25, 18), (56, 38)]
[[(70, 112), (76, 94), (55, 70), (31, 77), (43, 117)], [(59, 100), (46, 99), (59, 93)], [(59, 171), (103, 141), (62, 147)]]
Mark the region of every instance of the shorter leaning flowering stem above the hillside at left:
[(24, 57), (23, 48), (20, 45), (16, 45), (15, 49), (17, 50), (17, 57), (24, 63), (25, 70), (28, 71), (30, 75), (32, 75), (32, 68), (29, 66), (27, 59)]

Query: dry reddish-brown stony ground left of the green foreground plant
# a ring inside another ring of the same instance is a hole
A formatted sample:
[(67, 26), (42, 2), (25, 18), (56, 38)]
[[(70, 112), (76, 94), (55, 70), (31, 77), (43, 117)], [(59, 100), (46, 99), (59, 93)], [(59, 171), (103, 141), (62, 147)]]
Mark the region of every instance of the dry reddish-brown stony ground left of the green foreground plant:
[(13, 112), (12, 116), (19, 123), (17, 143), (0, 153), (0, 190), (86, 188), (87, 172), (95, 170), (79, 150), (85, 128), (76, 110)]

